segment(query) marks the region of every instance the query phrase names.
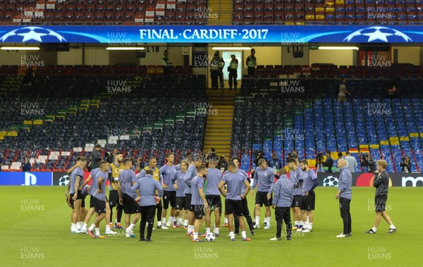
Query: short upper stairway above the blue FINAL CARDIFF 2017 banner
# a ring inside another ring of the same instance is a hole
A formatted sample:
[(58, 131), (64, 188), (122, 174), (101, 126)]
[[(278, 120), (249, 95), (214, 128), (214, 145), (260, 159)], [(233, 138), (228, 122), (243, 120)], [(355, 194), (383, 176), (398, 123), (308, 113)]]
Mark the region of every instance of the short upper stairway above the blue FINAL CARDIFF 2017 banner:
[(209, 0), (209, 25), (232, 25), (232, 6), (232, 1)]

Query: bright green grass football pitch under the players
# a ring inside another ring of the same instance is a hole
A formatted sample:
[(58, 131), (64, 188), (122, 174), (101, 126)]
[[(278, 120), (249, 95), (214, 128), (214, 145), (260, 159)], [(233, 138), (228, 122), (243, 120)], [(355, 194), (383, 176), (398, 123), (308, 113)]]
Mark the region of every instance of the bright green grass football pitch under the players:
[[(336, 238), (343, 229), (336, 188), (317, 187), (313, 232), (294, 232), (290, 241), (285, 234), (281, 241), (269, 241), (276, 234), (274, 210), (271, 229), (264, 230), (262, 208), (261, 228), (255, 236), (247, 231), (251, 242), (240, 237), (231, 242), (228, 228), (221, 228), (214, 242), (202, 243), (191, 242), (183, 228), (154, 230), (154, 242), (139, 242), (139, 222), (135, 239), (126, 238), (123, 230), (106, 239), (71, 234), (64, 191), (0, 187), (0, 266), (422, 266), (422, 187), (389, 188), (386, 211), (398, 229), (392, 235), (386, 234), (383, 220), (376, 235), (364, 233), (374, 223), (374, 188), (353, 187), (353, 236)], [(253, 214), (251, 195), (248, 203)], [(104, 234), (104, 221), (100, 231)], [(200, 229), (204, 231), (205, 223)]]

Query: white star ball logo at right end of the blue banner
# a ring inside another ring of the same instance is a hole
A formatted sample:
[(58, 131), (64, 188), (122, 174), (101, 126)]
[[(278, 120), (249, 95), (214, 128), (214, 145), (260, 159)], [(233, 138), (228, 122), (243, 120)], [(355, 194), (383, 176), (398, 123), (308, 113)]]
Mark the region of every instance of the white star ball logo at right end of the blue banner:
[(375, 27), (366, 27), (364, 29), (356, 30), (352, 34), (348, 35), (343, 39), (343, 41), (351, 42), (351, 40), (356, 39), (355, 42), (357, 42), (357, 38), (355, 37), (369, 37), (367, 39), (367, 42), (389, 42), (388, 37), (400, 37), (405, 42), (412, 42), (412, 39), (405, 35), (405, 33), (400, 32), (399, 30), (392, 29), (390, 27), (381, 27), (381, 26), (375, 26)]

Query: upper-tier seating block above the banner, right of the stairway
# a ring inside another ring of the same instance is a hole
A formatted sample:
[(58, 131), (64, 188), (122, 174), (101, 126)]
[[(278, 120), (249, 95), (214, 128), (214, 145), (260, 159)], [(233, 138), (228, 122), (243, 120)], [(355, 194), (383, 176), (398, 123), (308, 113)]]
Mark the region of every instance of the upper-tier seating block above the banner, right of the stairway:
[(415, 24), (422, 0), (234, 0), (235, 24)]

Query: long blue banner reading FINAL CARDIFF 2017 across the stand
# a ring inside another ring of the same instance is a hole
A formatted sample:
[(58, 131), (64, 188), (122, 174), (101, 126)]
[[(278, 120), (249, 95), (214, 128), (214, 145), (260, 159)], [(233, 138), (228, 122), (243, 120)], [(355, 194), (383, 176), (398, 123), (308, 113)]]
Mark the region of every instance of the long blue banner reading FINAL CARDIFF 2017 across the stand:
[(1, 25), (0, 43), (422, 43), (419, 25)]

